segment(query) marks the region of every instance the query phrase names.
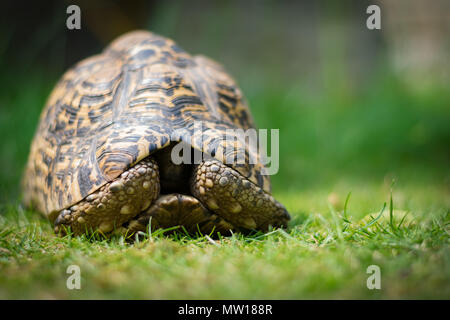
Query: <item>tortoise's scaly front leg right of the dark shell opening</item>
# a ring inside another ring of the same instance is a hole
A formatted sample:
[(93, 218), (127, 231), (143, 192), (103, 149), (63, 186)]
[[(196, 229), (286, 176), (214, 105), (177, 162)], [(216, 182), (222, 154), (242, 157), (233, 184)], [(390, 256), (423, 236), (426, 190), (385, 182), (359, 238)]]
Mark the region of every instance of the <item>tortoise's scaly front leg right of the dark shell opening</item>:
[(281, 203), (218, 160), (204, 161), (194, 169), (191, 192), (237, 228), (267, 231), (269, 225), (286, 227), (290, 219)]

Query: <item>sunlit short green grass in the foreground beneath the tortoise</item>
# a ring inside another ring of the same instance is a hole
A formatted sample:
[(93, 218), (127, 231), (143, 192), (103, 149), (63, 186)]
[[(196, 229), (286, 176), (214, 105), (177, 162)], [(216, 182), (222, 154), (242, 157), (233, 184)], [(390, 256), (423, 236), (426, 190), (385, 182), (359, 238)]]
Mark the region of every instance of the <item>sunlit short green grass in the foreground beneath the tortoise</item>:
[[(293, 215), (287, 231), (216, 241), (162, 232), (135, 243), (57, 238), (47, 221), (11, 206), (0, 221), (0, 298), (450, 298), (449, 212), (400, 210), (394, 192), (393, 221), (388, 194), (382, 216), (380, 203), (362, 219), (353, 204), (375, 203), (379, 192), (354, 192), (345, 209), (334, 195), (340, 210), (320, 192), (279, 195)], [(66, 288), (72, 264), (81, 290)], [(366, 287), (373, 264), (381, 290)]]

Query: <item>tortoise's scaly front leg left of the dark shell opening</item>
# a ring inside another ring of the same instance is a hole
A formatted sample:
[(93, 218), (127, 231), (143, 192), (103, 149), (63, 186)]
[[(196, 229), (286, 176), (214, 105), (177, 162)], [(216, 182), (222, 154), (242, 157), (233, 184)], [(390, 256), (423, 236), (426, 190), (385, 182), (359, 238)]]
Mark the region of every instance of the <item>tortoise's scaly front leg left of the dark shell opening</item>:
[(72, 207), (62, 210), (54, 221), (55, 232), (74, 235), (119, 228), (158, 197), (158, 164), (146, 158)]

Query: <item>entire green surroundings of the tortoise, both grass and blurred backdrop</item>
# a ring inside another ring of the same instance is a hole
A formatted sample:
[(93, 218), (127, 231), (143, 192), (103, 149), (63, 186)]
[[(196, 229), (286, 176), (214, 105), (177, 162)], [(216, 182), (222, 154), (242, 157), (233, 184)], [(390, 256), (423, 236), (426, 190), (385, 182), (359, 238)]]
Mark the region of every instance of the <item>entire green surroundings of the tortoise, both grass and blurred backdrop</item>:
[[(66, 28), (73, 3), (81, 30)], [(381, 30), (366, 28), (374, 3)], [(0, 297), (450, 297), (449, 1), (9, 1), (0, 12)], [(56, 81), (138, 28), (221, 62), (258, 127), (280, 129), (272, 182), (287, 233), (219, 247), (61, 239), (18, 206)], [(361, 227), (393, 181), (394, 212), (416, 222)], [(366, 287), (374, 263), (381, 291)], [(87, 290), (64, 286), (70, 264)]]

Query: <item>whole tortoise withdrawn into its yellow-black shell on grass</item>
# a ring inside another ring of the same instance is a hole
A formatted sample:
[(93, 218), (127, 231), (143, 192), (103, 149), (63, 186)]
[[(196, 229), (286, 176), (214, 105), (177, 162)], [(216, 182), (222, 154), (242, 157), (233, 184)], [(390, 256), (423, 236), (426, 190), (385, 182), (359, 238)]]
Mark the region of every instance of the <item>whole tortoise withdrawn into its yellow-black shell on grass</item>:
[[(31, 144), (23, 200), (60, 235), (286, 227), (289, 213), (271, 195), (259, 154), (234, 133), (250, 128), (245, 98), (220, 64), (132, 31), (56, 84)], [(182, 144), (183, 159), (201, 161), (174, 161)], [(239, 151), (244, 162), (225, 161)]]

